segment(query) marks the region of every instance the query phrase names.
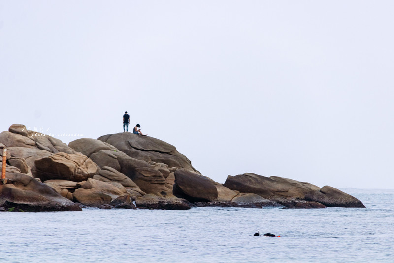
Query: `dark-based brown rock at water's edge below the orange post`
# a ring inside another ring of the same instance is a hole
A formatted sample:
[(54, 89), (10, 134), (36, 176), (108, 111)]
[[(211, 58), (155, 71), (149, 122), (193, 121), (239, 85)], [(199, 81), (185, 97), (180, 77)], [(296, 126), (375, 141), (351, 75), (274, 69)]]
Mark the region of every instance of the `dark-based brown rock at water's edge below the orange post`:
[(81, 211), (53, 188), (20, 173), (6, 173), (7, 184), (0, 185), (0, 207), (23, 211)]

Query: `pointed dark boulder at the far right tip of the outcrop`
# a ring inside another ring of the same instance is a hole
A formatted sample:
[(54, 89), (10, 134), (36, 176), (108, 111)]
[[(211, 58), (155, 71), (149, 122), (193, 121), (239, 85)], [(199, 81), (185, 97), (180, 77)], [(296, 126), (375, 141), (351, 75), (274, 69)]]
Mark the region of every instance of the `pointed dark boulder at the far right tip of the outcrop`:
[(328, 207), (365, 207), (359, 199), (330, 186), (311, 192), (306, 196), (306, 200), (319, 202)]

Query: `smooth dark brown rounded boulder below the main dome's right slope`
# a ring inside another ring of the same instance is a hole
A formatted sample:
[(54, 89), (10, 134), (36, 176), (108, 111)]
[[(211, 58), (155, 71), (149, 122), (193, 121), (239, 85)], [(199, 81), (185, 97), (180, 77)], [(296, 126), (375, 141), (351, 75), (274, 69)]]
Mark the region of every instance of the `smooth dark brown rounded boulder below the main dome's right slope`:
[(210, 202), (218, 198), (218, 190), (211, 179), (186, 170), (175, 171), (174, 195), (189, 202)]

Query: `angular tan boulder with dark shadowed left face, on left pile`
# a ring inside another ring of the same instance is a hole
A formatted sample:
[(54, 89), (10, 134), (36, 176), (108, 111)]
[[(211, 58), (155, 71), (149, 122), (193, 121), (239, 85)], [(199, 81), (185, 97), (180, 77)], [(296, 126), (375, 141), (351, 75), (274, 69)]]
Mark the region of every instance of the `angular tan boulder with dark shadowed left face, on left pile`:
[(63, 179), (80, 182), (92, 177), (99, 170), (91, 159), (81, 153), (59, 152), (35, 160), (34, 164), (33, 175), (42, 181)]

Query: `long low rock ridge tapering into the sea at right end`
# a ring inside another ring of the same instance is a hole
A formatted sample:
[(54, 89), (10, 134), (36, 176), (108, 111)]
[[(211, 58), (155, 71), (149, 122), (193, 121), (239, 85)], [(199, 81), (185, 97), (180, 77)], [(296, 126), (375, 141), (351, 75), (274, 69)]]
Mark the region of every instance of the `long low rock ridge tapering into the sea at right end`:
[[(327, 206), (364, 207), (356, 198), (338, 189), (319, 187), (296, 180), (246, 173), (228, 176), (225, 187), (260, 195), (288, 208), (324, 208)], [(323, 191), (322, 191), (323, 190)]]

